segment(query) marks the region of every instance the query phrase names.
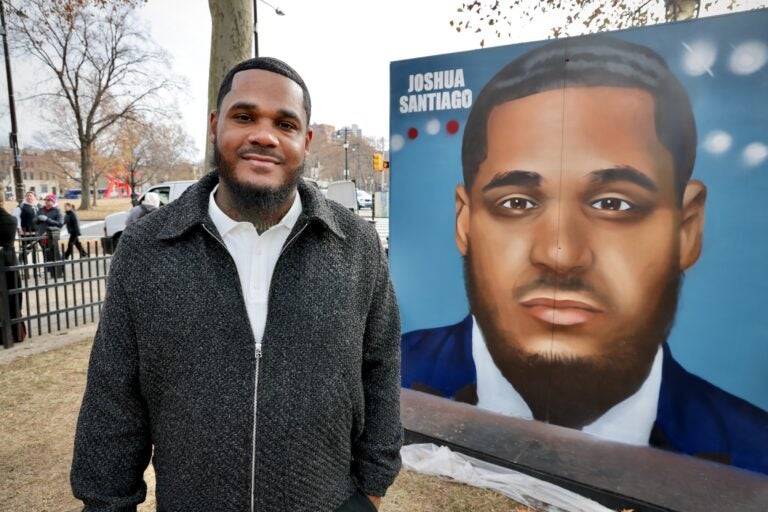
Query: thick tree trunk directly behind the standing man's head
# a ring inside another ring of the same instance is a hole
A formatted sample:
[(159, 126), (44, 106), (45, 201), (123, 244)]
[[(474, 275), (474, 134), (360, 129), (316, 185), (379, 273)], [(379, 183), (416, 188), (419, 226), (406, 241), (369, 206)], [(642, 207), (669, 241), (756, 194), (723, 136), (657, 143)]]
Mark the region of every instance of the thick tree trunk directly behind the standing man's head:
[[(219, 84), (235, 64), (252, 56), (252, 0), (208, 0), (211, 12), (211, 58), (208, 67), (208, 112), (216, 110)], [(208, 140), (208, 120), (205, 123)], [(211, 161), (213, 147), (206, 144), (205, 161)]]

